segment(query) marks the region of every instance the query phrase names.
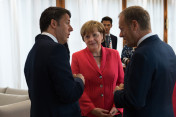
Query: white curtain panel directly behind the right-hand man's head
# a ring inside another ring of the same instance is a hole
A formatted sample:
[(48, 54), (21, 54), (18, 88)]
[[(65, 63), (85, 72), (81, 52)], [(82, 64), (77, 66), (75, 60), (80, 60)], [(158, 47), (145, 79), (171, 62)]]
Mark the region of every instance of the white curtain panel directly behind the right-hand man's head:
[(127, 7), (133, 5), (141, 6), (149, 12), (152, 32), (164, 40), (163, 0), (127, 0)]

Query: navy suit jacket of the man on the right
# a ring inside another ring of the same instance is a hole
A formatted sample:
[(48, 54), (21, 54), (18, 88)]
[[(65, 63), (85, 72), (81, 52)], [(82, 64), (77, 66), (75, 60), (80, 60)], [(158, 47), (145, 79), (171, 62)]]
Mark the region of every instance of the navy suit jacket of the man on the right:
[(176, 81), (176, 55), (157, 35), (135, 50), (125, 73), (124, 90), (116, 91), (116, 107), (123, 117), (174, 117), (172, 93)]

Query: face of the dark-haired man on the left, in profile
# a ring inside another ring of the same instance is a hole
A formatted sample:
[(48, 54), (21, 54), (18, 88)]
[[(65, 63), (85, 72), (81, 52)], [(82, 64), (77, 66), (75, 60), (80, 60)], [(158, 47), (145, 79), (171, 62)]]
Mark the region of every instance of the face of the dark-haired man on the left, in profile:
[(55, 29), (56, 38), (59, 43), (65, 44), (71, 31), (73, 31), (73, 28), (70, 25), (70, 17), (68, 14), (64, 14)]

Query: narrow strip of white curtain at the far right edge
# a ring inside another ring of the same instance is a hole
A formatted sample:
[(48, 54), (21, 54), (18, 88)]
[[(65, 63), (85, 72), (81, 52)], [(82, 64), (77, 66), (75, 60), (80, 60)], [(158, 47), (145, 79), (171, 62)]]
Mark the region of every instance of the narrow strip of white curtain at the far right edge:
[(168, 0), (168, 44), (176, 53), (176, 1)]

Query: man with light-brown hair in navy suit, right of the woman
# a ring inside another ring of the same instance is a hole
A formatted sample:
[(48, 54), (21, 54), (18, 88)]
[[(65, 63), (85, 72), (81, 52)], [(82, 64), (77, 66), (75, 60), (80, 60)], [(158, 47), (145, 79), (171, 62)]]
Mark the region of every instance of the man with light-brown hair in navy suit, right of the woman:
[(114, 101), (123, 117), (174, 117), (172, 94), (176, 81), (173, 49), (151, 33), (150, 16), (139, 6), (119, 15), (120, 37), (136, 47), (128, 63), (124, 87), (115, 88)]

